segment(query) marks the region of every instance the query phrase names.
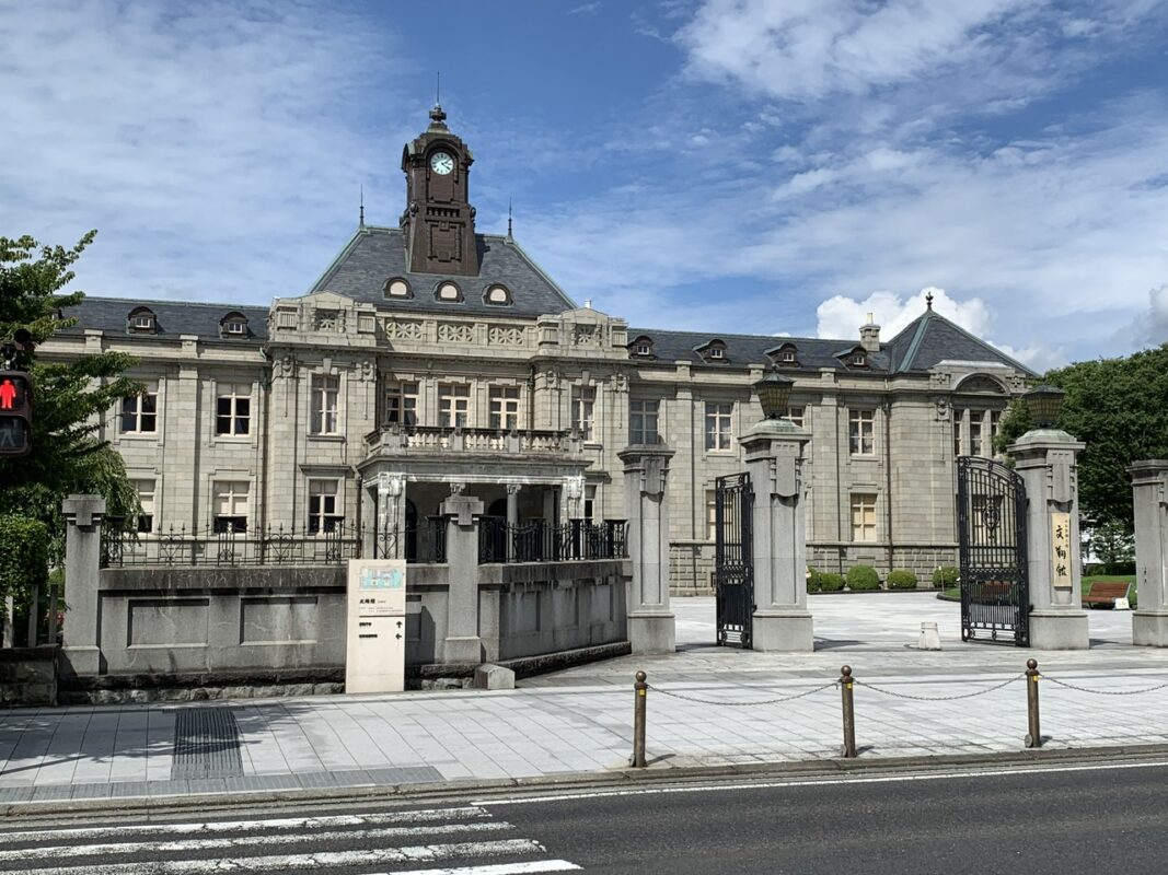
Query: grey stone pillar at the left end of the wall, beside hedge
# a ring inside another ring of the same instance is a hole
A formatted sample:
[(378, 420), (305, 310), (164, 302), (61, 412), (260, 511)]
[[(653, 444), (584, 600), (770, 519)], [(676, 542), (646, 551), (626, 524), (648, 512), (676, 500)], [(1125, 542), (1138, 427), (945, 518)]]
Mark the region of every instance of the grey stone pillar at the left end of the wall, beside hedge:
[(61, 510), (65, 517), (65, 580), (69, 583), (63, 666), (76, 676), (93, 677), (102, 667), (98, 588), (105, 499), (98, 495), (71, 495), (61, 503)]

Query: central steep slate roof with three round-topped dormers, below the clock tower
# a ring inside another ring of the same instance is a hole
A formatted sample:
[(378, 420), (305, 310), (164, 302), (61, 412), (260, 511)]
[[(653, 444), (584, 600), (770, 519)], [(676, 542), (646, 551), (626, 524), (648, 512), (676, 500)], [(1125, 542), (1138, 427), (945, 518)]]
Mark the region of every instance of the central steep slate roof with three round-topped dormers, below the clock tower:
[[(364, 226), (357, 230), (328, 270), (312, 285), (310, 294), (335, 292), (385, 309), (422, 313), (541, 316), (576, 309), (576, 303), (513, 239), (475, 235), (474, 240), (479, 247), (478, 276), (411, 273), (402, 231)], [(387, 299), (385, 281), (392, 276), (409, 281), (413, 298)], [(463, 289), (464, 301), (434, 300), (434, 288), (447, 280)], [(501, 307), (484, 302), (487, 286), (496, 282), (510, 289), (512, 304)]]

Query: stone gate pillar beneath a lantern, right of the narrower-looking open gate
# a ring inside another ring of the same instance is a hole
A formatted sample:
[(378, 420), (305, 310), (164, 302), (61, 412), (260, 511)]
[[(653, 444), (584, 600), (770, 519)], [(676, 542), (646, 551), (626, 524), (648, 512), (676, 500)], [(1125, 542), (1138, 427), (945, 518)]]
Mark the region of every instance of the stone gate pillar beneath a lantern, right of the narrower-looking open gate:
[(788, 419), (764, 419), (739, 439), (755, 490), (755, 650), (812, 651), (807, 610), (804, 490), (811, 434)]

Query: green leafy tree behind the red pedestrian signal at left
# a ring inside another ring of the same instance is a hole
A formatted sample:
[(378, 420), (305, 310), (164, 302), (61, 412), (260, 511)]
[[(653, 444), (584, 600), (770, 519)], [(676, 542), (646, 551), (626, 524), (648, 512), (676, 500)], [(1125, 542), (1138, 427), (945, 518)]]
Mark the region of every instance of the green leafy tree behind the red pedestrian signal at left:
[[(35, 344), (76, 324), (63, 309), (84, 298), (62, 292), (74, 280), (72, 265), (93, 240), (90, 231), (76, 246), (41, 246), (32, 237), (0, 237), (0, 338), (27, 328)], [(111, 514), (132, 513), (137, 495), (121, 457), (98, 436), (102, 419), (141, 386), (124, 376), (133, 363), (120, 352), (84, 354), (67, 363), (43, 363), (34, 350), (16, 354), (14, 365), (33, 380), (33, 452), (0, 459), (5, 512), (46, 523), (51, 559), (60, 561), (64, 523), (61, 499), (70, 492), (105, 496)]]

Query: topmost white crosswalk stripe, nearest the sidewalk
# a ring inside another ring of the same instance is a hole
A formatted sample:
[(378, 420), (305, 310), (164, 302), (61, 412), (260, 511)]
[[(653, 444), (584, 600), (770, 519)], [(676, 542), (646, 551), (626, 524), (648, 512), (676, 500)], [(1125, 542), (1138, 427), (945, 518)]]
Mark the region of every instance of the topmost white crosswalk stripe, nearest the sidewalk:
[(391, 811), (378, 814), (329, 814), (315, 818), (276, 818), (272, 820), (224, 820), (207, 824), (132, 824), (128, 826), (79, 827), (76, 830), (0, 831), (0, 840), (77, 841), (124, 835), (203, 835), (206, 833), (256, 832), (262, 830), (326, 830), (333, 826), (375, 826), (377, 824), (412, 824), (434, 820), (465, 820), (491, 817), (485, 808), (425, 808), (422, 811)]

